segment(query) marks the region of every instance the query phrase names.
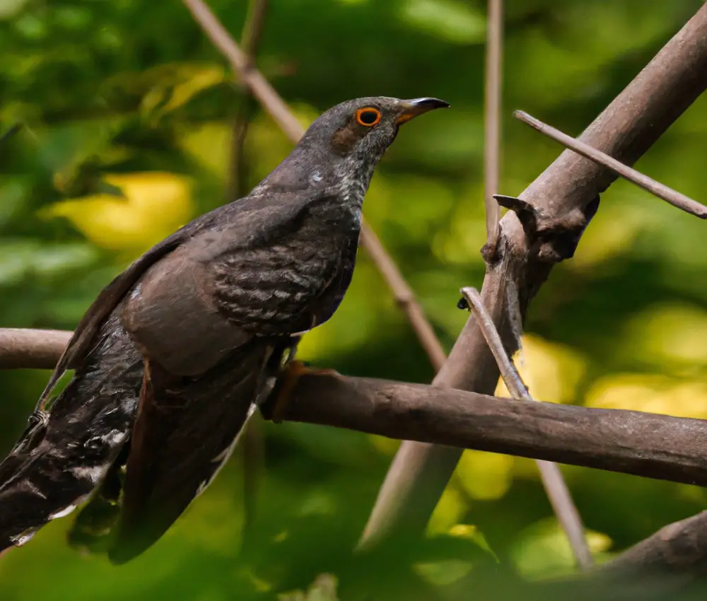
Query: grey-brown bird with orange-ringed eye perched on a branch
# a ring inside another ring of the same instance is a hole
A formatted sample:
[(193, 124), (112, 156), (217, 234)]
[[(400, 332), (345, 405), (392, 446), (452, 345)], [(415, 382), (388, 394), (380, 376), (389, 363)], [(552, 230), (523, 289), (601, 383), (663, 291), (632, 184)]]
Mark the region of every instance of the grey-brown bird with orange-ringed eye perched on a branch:
[(119, 564), (156, 542), (226, 462), (298, 336), (341, 303), (363, 197), (399, 125), (447, 106), (359, 98), (333, 107), (250, 194), (117, 276), (0, 464), (0, 550), (87, 499), (74, 544)]

